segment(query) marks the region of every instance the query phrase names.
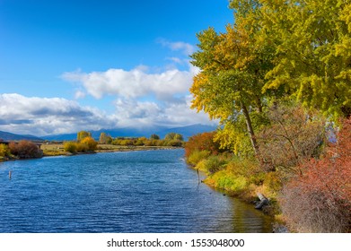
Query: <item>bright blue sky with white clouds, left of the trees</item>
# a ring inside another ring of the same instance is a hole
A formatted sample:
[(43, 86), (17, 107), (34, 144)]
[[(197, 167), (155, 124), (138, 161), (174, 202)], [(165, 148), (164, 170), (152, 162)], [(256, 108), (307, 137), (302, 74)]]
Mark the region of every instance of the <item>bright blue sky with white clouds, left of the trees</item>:
[(201, 30), (228, 0), (0, 0), (0, 130), (213, 125), (191, 109)]

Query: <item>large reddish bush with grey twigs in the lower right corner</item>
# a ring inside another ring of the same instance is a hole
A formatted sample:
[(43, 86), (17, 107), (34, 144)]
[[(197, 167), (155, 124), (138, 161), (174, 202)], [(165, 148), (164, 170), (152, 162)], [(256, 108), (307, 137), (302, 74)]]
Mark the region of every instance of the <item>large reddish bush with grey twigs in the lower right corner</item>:
[(286, 221), (303, 232), (351, 231), (351, 119), (321, 160), (305, 161), (284, 188)]

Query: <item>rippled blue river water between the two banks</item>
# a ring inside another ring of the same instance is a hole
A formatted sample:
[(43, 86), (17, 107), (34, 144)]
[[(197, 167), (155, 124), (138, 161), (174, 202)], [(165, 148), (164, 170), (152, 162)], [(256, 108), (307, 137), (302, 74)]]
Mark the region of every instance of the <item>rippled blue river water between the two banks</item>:
[(2, 162), (0, 232), (272, 230), (252, 205), (198, 184), (183, 155), (130, 151)]

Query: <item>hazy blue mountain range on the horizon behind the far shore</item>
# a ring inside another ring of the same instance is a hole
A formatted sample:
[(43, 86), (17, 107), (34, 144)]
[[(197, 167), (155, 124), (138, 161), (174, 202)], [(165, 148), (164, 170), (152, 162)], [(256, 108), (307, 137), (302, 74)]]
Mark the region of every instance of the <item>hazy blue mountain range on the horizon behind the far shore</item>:
[[(169, 133), (177, 133), (182, 134), (185, 140), (195, 134), (211, 132), (216, 129), (215, 125), (188, 125), (188, 126), (181, 126), (181, 127), (164, 127), (164, 126), (157, 126), (157, 127), (149, 127), (149, 128), (118, 128), (118, 129), (101, 129), (99, 131), (92, 131), (92, 137), (94, 139), (99, 139), (101, 133), (109, 134), (111, 137), (150, 137), (151, 134), (157, 134), (161, 138), (164, 138), (166, 134)], [(48, 141), (71, 141), (75, 140), (77, 134), (57, 134), (57, 135), (48, 135), (44, 136), (43, 138)]]

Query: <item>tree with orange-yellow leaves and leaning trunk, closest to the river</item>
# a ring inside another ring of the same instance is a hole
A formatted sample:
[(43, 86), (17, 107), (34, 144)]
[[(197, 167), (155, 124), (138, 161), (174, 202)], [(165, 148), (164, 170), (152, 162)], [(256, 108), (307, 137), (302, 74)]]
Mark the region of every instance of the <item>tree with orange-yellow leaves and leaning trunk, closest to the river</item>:
[[(252, 6), (250, 11), (254, 11)], [(226, 26), (226, 33), (210, 28), (197, 34), (199, 50), (191, 56), (191, 64), (201, 71), (190, 88), (194, 95), (191, 108), (204, 110), (223, 125), (236, 125), (239, 117), (244, 117), (252, 150), (258, 155), (252, 114), (262, 112), (262, 88), (271, 58), (268, 48), (256, 47), (257, 30), (240, 19), (245, 13), (250, 12), (246, 8), (237, 10), (236, 22)]]

